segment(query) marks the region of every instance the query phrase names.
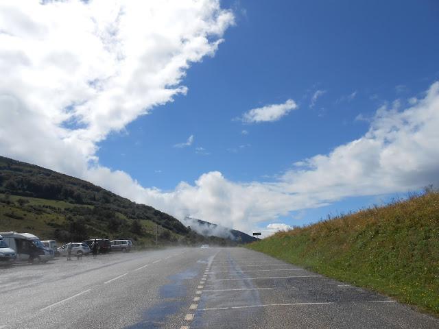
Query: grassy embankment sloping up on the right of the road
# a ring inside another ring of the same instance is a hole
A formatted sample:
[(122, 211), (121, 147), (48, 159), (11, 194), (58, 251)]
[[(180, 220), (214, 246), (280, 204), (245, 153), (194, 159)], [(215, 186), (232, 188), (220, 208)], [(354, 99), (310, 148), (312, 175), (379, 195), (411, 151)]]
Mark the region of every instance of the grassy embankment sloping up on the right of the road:
[(439, 193), (278, 232), (247, 245), (439, 316)]

